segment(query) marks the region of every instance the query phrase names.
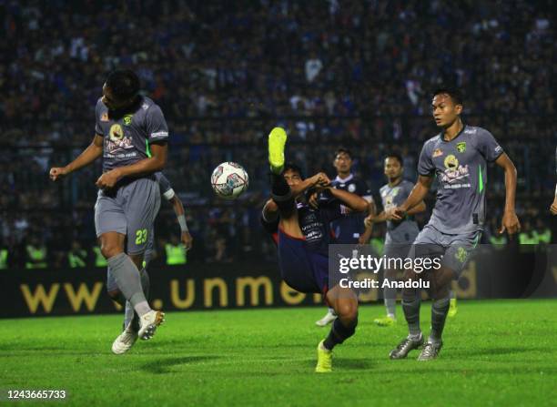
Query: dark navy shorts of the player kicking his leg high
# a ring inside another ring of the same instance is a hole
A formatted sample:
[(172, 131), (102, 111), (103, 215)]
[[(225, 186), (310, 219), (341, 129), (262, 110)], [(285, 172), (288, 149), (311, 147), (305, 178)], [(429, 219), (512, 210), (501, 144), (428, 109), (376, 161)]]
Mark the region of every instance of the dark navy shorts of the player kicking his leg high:
[(304, 239), (279, 229), (279, 267), (282, 279), (294, 290), (325, 295), (329, 290), (329, 258), (307, 249)]

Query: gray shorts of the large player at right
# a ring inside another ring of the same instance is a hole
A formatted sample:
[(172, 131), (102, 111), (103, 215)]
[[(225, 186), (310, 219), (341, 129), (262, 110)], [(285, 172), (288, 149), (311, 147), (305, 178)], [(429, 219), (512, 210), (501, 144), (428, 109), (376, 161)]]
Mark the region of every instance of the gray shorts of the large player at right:
[(426, 225), (414, 240), (409, 256), (424, 258), (442, 256), (441, 265), (460, 277), (480, 239), (481, 230), (451, 235)]

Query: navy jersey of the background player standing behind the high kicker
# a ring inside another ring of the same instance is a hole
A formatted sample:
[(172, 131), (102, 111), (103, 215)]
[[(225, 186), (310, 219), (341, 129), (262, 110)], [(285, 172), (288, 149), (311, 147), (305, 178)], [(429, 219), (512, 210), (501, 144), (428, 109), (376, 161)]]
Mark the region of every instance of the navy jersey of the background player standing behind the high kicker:
[[(354, 178), (352, 174), (348, 178), (340, 179), (335, 178), (332, 181), (333, 188), (338, 188), (356, 194), (368, 202), (371, 202), (371, 190), (368, 188), (365, 182), (358, 178)], [(341, 206), (343, 212), (348, 212), (347, 208)], [(331, 228), (337, 237), (337, 243), (339, 244), (357, 244), (360, 235), (364, 232), (364, 219), (366, 214), (362, 212), (348, 213), (347, 216), (342, 217), (334, 221), (331, 224)]]

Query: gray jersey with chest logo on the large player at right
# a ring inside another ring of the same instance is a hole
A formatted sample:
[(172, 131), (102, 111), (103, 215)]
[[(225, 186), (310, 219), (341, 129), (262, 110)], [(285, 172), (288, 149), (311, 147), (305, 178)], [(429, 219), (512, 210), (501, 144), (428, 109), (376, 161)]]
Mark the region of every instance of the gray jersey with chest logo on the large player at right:
[(483, 229), (486, 163), (502, 153), (491, 133), (481, 127), (464, 126), (451, 141), (445, 141), (442, 133), (426, 141), (418, 173), (436, 175), (439, 182), (429, 225), (447, 234)]

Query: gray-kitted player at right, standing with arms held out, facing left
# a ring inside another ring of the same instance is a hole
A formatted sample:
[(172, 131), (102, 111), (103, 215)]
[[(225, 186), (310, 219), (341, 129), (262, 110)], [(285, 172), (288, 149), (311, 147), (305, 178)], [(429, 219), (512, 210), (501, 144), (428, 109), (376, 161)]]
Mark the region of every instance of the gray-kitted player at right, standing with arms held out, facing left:
[[(423, 145), (418, 163), (418, 183), (399, 207), (391, 209), (394, 220), (403, 219), (425, 198), (433, 177), (439, 188), (430, 222), (421, 230), (412, 246), (417, 257), (440, 256), (441, 268), (423, 271), (430, 280), (431, 331), (419, 361), (439, 355), (441, 334), (449, 310), (451, 280), (458, 278), (466, 260), (480, 239), (485, 221), (487, 163), (495, 162), (505, 173), (506, 199), (500, 233), (509, 235), (520, 230), (514, 210), (516, 168), (489, 131), (462, 122), (462, 97), (456, 89), (443, 88), (433, 94), (432, 113), (441, 133)], [(426, 245), (426, 246), (420, 246)], [(413, 270), (405, 272), (407, 280), (420, 280)], [(391, 359), (405, 358), (422, 346), (420, 331), (420, 295), (418, 289), (402, 290), (402, 310), (409, 335), (392, 351)]]

